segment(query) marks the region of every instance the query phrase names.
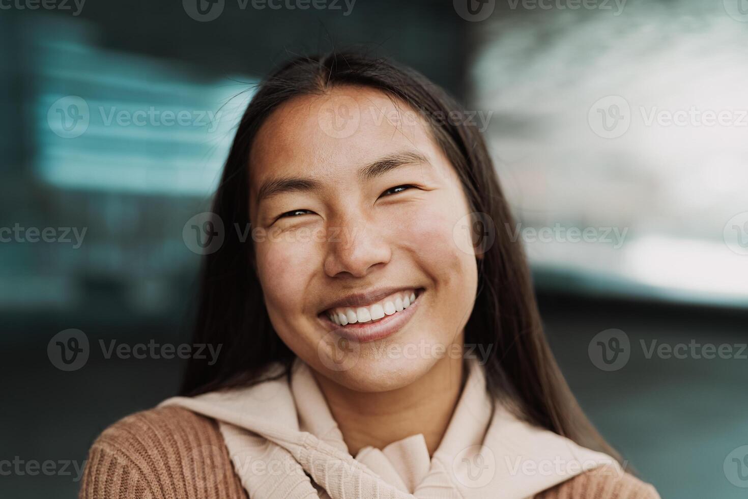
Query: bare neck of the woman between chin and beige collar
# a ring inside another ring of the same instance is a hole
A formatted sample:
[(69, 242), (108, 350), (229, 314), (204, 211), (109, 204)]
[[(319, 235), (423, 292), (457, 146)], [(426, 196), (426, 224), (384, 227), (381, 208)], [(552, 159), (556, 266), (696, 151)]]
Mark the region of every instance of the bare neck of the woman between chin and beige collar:
[(315, 378), (352, 456), (364, 447), (383, 449), (419, 433), (430, 456), (447, 431), (462, 375), (462, 357), (446, 355), (417, 381), (391, 391), (352, 391), (325, 376), (315, 373)]

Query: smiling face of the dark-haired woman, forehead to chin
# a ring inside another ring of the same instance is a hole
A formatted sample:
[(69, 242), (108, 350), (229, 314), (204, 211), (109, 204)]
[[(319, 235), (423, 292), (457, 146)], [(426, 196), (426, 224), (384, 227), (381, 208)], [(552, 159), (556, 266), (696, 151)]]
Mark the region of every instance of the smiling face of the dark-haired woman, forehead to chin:
[(356, 391), (462, 359), (470, 209), (419, 114), (370, 88), (296, 97), (263, 123), (250, 164), (257, 273), (298, 357)]

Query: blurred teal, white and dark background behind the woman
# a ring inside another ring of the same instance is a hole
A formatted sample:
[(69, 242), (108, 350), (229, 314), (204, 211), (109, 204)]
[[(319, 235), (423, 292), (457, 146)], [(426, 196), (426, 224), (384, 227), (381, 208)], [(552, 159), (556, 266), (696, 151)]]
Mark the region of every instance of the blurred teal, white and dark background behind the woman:
[(0, 497), (76, 497), (96, 435), (174, 394), (183, 361), (99, 341), (189, 341), (183, 230), (252, 85), (352, 47), (481, 127), (518, 218), (488, 230), (610, 443), (663, 498), (747, 497), (747, 43), (744, 0), (0, 0)]

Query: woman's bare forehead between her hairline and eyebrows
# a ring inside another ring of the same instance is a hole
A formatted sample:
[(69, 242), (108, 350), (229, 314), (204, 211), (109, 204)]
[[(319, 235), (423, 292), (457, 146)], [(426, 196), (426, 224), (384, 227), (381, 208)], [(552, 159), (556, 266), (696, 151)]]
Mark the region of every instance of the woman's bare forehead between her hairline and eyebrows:
[(260, 127), (251, 148), (252, 192), (263, 179), (332, 179), (387, 153), (415, 149), (440, 156), (423, 117), (373, 88), (338, 87), (285, 102)]

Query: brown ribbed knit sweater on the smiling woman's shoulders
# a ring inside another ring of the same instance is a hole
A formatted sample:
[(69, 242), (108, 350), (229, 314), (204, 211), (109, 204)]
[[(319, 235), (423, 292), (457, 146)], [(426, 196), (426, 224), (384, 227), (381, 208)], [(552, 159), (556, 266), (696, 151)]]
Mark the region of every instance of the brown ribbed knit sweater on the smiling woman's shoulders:
[[(540, 499), (659, 499), (630, 474), (589, 471)], [(88, 454), (80, 499), (246, 499), (215, 420), (179, 407), (132, 414), (105, 429)]]

